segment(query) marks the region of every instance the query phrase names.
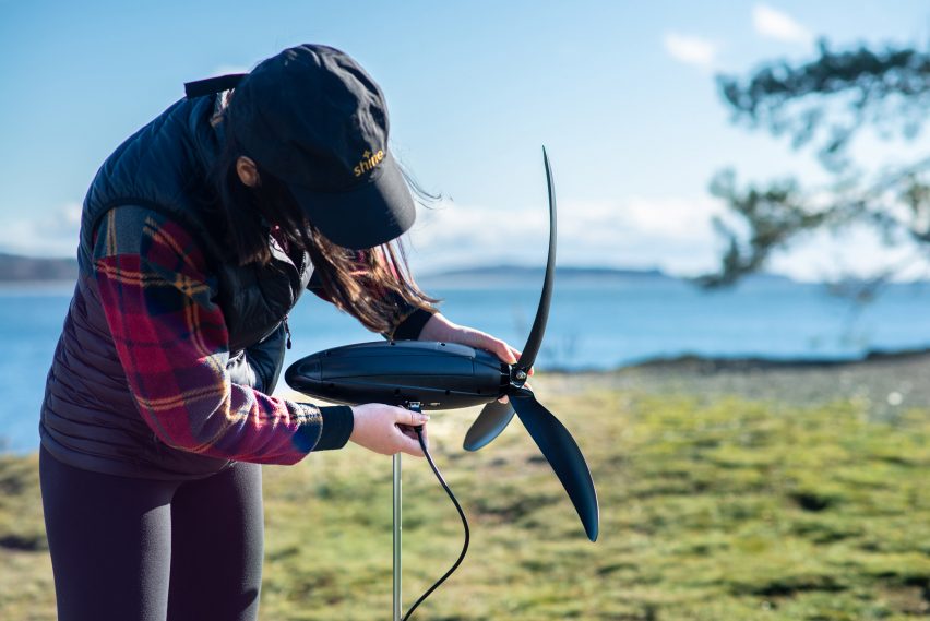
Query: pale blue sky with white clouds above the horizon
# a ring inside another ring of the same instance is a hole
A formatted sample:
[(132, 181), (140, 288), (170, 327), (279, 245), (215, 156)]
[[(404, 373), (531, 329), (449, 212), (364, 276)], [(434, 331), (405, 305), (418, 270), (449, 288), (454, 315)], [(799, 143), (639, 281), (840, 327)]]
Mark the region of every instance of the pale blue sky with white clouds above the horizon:
[[(930, 7), (0, 0), (0, 251), (73, 254), (96, 169), (182, 96), (183, 82), (318, 41), (381, 84), (392, 148), (444, 195), (412, 234), (417, 272), (545, 260), (545, 143), (560, 264), (693, 274), (717, 252), (708, 220), (719, 205), (706, 192), (716, 170), (819, 178), (809, 155), (731, 126), (714, 74), (811, 58), (820, 36), (925, 45)], [(861, 150), (901, 154), (868, 139)], [(899, 252), (865, 235), (819, 237), (773, 267), (816, 278)]]

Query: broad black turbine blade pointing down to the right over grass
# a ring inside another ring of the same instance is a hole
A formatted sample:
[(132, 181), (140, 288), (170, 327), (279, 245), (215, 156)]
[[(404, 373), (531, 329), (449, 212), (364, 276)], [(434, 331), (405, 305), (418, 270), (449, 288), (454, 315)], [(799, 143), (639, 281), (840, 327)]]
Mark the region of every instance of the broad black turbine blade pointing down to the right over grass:
[(597, 491), (594, 489), (584, 455), (572, 434), (552, 413), (536, 401), (532, 391), (521, 389), (510, 395), (510, 402), (521, 422), (562, 481), (562, 487), (581, 517), (587, 538), (597, 540), (600, 524)]

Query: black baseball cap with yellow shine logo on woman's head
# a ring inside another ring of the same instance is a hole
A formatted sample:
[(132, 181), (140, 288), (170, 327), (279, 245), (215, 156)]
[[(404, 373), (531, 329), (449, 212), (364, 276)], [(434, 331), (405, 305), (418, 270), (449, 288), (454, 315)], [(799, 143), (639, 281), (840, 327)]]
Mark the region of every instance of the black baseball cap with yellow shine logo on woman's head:
[(239, 77), (226, 131), (326, 238), (359, 250), (413, 226), (414, 199), (388, 150), (384, 94), (353, 58), (305, 44)]

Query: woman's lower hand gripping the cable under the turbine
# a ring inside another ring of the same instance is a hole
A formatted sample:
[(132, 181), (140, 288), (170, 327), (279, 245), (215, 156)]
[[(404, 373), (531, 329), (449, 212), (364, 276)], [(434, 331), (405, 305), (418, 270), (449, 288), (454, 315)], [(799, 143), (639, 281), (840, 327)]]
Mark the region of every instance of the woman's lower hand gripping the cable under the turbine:
[(424, 456), (416, 432), (409, 428), (425, 426), (429, 415), (381, 403), (357, 405), (351, 413), (355, 425), (349, 440), (356, 444), (382, 455), (406, 453)]

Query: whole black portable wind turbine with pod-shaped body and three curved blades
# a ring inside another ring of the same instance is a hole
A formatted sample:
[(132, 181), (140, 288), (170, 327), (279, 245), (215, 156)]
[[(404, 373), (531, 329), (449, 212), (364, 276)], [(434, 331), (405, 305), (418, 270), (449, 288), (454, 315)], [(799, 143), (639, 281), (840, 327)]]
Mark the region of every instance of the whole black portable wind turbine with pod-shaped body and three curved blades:
[[(465, 437), (477, 451), (506, 428), (514, 413), (569, 494), (585, 534), (597, 539), (599, 509), (591, 470), (571, 433), (546, 409), (526, 380), (542, 343), (549, 317), (556, 264), (556, 190), (546, 150), (549, 189), (549, 258), (533, 330), (520, 360), (508, 365), (497, 356), (454, 343), (379, 341), (326, 349), (291, 365), (287, 384), (303, 394), (345, 404), (384, 403), (422, 409), (454, 409), (485, 404)], [(509, 404), (497, 399), (506, 395)]]

